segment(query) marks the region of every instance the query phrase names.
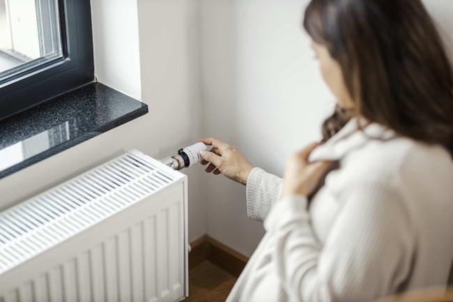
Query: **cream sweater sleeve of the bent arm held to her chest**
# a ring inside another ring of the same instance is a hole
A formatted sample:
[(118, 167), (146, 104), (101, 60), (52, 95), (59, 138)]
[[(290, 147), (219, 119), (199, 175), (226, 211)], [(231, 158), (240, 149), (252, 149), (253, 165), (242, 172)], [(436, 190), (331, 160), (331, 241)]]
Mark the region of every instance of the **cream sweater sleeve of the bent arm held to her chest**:
[(399, 192), (374, 184), (346, 195), (322, 247), (305, 197), (286, 197), (270, 211), (265, 228), (289, 301), (370, 301), (397, 292), (408, 278), (415, 229)]

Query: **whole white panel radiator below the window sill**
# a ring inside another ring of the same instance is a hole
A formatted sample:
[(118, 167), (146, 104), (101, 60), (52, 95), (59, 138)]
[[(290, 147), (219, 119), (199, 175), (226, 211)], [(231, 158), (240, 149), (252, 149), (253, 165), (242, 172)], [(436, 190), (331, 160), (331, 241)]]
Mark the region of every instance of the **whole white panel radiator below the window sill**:
[(181, 301), (187, 176), (139, 151), (0, 213), (0, 301)]

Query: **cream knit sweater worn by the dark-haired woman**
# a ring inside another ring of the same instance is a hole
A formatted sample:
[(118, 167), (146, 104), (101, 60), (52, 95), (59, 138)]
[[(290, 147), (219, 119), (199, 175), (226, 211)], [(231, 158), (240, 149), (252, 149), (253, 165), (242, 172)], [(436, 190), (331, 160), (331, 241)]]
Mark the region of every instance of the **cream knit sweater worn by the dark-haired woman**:
[(282, 179), (255, 168), (249, 217), (266, 235), (227, 302), (372, 301), (445, 287), (453, 257), (453, 161), (440, 146), (350, 121), (312, 152), (339, 160), (312, 199), (279, 200)]

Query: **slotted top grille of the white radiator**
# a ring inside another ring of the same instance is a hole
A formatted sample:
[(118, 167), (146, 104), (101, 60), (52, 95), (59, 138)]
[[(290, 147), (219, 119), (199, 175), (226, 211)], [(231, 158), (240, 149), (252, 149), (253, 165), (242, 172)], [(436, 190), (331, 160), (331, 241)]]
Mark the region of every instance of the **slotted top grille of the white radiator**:
[(0, 214), (0, 274), (174, 179), (128, 153)]

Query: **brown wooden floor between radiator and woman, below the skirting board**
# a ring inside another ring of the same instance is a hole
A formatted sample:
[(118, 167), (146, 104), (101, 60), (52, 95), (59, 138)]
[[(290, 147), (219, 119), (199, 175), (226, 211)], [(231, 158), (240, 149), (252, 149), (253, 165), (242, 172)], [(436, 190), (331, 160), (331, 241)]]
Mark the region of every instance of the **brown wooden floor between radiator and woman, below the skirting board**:
[(184, 302), (224, 302), (236, 277), (209, 261), (189, 271), (189, 297)]

